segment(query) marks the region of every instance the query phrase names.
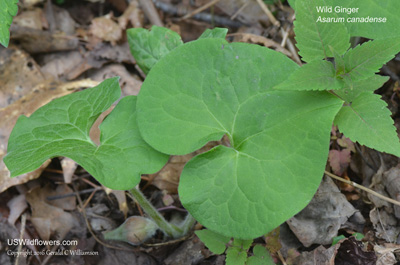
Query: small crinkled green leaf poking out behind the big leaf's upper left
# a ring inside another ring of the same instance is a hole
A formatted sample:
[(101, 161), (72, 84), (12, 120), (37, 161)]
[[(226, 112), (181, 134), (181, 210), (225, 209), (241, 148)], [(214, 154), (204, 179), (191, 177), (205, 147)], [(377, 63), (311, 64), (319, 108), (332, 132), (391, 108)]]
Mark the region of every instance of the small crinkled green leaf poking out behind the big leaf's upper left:
[(126, 33), (131, 53), (145, 74), (163, 56), (182, 45), (181, 36), (178, 33), (163, 27), (153, 26), (151, 31), (144, 28), (132, 28)]

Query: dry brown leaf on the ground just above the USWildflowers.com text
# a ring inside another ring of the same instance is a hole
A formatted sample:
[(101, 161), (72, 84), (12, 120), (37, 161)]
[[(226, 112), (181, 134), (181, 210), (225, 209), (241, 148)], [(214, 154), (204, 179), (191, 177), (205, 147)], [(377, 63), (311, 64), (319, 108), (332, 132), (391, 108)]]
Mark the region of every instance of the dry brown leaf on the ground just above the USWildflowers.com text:
[(72, 214), (46, 202), (48, 191), (49, 188), (38, 187), (26, 194), (32, 209), (31, 222), (41, 239), (62, 239), (78, 222)]

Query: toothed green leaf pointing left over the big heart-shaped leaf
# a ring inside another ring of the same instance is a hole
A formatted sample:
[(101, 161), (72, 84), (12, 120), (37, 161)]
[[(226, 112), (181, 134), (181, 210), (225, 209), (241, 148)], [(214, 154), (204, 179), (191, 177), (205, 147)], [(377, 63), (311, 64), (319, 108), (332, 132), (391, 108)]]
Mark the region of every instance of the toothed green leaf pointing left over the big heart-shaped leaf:
[(316, 60), (300, 67), (275, 89), (336, 90), (343, 86), (344, 82), (336, 78), (335, 67), (331, 62)]

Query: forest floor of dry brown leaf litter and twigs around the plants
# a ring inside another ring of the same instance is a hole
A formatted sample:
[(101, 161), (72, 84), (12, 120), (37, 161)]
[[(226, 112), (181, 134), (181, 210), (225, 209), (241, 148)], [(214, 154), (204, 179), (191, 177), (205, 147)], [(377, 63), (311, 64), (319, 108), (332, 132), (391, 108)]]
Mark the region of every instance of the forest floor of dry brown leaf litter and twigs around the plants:
[[(19, 115), (30, 115), (54, 98), (112, 76), (121, 77), (123, 95), (136, 95), (145, 75), (127, 43), (126, 30), (132, 27), (165, 26), (184, 42), (197, 39), (208, 28), (226, 27), (228, 41), (275, 49), (300, 63), (294, 46), (294, 11), (286, 2), (268, 5), (272, 15), (266, 14), (262, 1), (156, 0), (154, 6), (151, 2), (25, 0), (19, 4), (10, 46), (0, 47), (1, 158)], [(391, 78), (376, 93), (388, 104), (399, 130), (400, 56), (380, 74)], [(96, 138), (96, 131), (92, 133)], [(173, 156), (160, 172), (142, 176), (141, 189), (166, 218), (185, 213), (177, 188), (179, 174), (193, 155)], [(353, 143), (335, 127), (326, 170), (400, 200), (400, 159)], [(144, 214), (129, 195), (101, 186), (68, 158), (54, 158), (13, 179), (1, 161), (2, 265), (225, 264), (225, 256), (214, 255), (193, 232), (178, 240), (157, 233), (140, 246), (104, 239), (104, 231), (132, 215)], [(277, 264), (400, 264), (399, 219), (400, 206), (325, 176), (309, 206), (255, 243), (265, 246)], [(22, 246), (16, 239), (78, 245), (45, 246), (36, 241)], [(82, 252), (64, 255), (64, 250)]]

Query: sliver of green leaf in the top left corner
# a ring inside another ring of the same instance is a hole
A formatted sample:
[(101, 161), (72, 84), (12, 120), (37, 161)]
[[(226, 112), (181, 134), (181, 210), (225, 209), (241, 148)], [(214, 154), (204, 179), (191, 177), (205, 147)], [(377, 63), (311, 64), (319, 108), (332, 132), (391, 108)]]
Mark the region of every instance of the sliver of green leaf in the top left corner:
[(0, 0), (0, 44), (8, 47), (9, 28), (13, 17), (18, 12), (18, 0)]

